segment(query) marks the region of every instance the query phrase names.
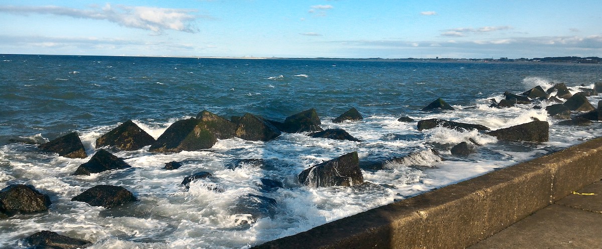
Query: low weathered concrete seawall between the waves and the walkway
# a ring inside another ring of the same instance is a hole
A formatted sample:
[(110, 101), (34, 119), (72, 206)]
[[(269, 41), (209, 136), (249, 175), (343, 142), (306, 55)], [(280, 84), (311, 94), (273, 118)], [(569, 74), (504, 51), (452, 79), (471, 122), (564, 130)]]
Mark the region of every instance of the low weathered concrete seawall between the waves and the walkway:
[(465, 248), (602, 178), (602, 138), (256, 248)]

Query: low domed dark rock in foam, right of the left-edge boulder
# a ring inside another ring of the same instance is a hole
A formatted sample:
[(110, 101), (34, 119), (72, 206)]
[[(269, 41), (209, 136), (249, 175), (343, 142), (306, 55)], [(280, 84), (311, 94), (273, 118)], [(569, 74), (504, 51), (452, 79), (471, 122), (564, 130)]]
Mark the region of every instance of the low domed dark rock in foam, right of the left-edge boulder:
[(71, 201), (81, 201), (90, 206), (116, 207), (137, 201), (132, 192), (120, 186), (97, 185), (73, 197)]

